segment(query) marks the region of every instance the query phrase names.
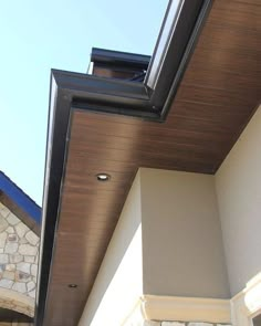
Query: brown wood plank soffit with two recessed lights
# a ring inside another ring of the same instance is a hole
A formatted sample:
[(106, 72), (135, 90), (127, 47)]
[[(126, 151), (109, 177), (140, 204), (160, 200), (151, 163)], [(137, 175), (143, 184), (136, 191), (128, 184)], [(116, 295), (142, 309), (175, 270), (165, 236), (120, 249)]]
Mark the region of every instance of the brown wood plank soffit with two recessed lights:
[(139, 167), (216, 172), (261, 99), (260, 17), (215, 2), (166, 123), (74, 112), (44, 325), (77, 325)]

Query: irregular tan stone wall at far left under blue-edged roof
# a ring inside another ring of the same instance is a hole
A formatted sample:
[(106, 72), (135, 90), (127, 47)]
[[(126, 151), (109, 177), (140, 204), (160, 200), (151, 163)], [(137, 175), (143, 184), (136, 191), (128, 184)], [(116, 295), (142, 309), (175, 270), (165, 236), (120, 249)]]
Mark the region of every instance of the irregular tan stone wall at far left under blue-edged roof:
[(35, 298), (39, 240), (0, 202), (0, 287)]

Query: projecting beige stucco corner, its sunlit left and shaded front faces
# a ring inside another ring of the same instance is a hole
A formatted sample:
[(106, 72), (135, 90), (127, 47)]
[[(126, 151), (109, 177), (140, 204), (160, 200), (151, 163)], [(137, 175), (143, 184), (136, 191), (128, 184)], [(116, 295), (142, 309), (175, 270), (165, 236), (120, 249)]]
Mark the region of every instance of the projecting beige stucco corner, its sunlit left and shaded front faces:
[(230, 297), (212, 176), (139, 170), (79, 325), (128, 323), (143, 294)]

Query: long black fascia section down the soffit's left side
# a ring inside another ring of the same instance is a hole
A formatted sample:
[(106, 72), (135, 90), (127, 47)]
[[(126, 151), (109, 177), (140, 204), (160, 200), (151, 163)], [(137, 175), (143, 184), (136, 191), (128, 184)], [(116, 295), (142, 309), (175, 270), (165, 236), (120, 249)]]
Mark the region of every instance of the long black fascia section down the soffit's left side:
[(67, 130), (70, 126), (71, 98), (51, 74), (49, 127), (46, 140), (44, 191), (42, 204), (42, 231), (34, 325), (46, 325), (44, 314), (53, 264), (55, 235), (60, 218), (62, 180), (65, 172)]

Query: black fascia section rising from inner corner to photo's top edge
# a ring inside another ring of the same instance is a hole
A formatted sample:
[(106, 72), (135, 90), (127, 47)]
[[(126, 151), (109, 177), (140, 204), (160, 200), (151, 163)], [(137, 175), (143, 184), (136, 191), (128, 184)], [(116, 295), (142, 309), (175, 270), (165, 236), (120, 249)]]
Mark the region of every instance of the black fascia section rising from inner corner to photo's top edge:
[[(173, 99), (176, 95), (212, 2), (213, 0), (194, 0), (192, 2), (184, 0), (174, 31), (169, 30), (164, 51), (158, 45), (159, 40), (157, 41), (145, 83), (154, 90), (152, 93), (154, 105), (165, 111), (163, 118), (166, 116), (166, 98)], [(163, 30), (160, 34), (164, 34)], [(159, 52), (163, 51), (161, 55), (157, 54), (157, 46)], [(158, 59), (161, 61), (158, 62)], [(158, 66), (156, 72), (155, 64)]]

